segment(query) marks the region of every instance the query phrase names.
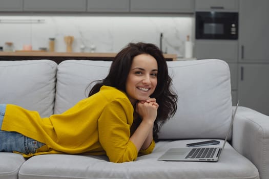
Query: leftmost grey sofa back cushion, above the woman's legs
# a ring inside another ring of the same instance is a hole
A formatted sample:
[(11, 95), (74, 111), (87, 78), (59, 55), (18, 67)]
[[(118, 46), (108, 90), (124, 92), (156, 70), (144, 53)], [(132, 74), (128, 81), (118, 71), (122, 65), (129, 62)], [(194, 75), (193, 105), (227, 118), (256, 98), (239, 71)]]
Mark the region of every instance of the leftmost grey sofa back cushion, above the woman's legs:
[(51, 60), (0, 61), (0, 103), (53, 114), (57, 63)]

